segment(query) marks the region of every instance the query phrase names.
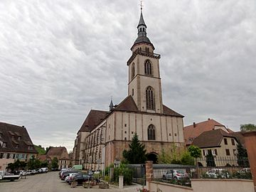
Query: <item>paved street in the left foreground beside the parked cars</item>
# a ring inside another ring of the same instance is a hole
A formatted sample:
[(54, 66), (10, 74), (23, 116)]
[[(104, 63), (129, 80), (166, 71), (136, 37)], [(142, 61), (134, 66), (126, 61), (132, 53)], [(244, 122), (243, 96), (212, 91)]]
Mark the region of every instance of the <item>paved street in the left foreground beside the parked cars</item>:
[(1, 192), (68, 192), (68, 191), (127, 191), (135, 192), (140, 186), (119, 188), (111, 187), (109, 189), (95, 188), (87, 189), (78, 186), (77, 188), (70, 188), (67, 183), (58, 178), (58, 172), (49, 172), (47, 174), (38, 174), (34, 176), (27, 176), (26, 179), (19, 181), (0, 181)]

